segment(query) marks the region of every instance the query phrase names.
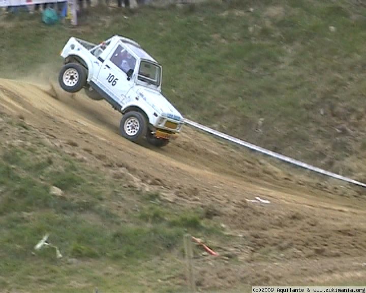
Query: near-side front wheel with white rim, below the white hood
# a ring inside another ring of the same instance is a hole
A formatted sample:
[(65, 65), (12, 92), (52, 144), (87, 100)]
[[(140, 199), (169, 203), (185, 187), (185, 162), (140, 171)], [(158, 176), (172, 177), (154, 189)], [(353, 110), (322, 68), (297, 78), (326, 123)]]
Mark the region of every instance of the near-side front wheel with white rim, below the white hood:
[(133, 142), (141, 142), (147, 131), (145, 116), (137, 111), (129, 111), (122, 116), (119, 132)]

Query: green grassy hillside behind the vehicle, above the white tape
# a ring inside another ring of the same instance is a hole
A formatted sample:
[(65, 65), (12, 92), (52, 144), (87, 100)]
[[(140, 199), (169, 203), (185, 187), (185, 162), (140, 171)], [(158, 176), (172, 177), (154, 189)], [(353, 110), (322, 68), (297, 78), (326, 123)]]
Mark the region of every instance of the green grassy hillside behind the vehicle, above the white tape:
[(343, 165), (360, 156), (366, 126), (365, 12), (345, 0), (102, 7), (76, 29), (7, 15), (0, 76), (56, 76), (70, 36), (124, 35), (161, 62), (164, 94), (189, 118), (349, 174), (359, 172)]

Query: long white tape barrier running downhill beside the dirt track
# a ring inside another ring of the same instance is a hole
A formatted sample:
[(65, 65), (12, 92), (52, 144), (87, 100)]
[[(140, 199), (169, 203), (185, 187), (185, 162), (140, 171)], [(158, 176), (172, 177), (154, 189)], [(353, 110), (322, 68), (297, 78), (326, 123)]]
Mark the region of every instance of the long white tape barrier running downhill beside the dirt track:
[(286, 156), (283, 156), (281, 154), (277, 154), (275, 152), (272, 152), (272, 151), (269, 151), (269, 150), (266, 150), (266, 149), (263, 149), (261, 147), (257, 147), (257, 145), (254, 145), (252, 143), (249, 143), (249, 142), (246, 142), (246, 141), (243, 141), (243, 140), (240, 140), (238, 138), (235, 138), (233, 136), (230, 136), (230, 135), (227, 135), (225, 133), (222, 133), (222, 132), (219, 132), (217, 130), (214, 130), (214, 129), (211, 129), (207, 126), (204, 126), (202, 124), (199, 124), (197, 122), (194, 122), (194, 121), (191, 121), (189, 119), (185, 119), (185, 122), (193, 127), (196, 127), (200, 130), (203, 130), (205, 132), (208, 132), (208, 133), (211, 133), (211, 134), (214, 134), (218, 137), (221, 137), (221, 138), (224, 138), (224, 139), (227, 139), (231, 142), (234, 142), (234, 143), (237, 143), (239, 145), (242, 145), (243, 147), (246, 147), (248, 149), (251, 149), (251, 150), (254, 150), (254, 151), (257, 151), (259, 153), (262, 153), (262, 154), (265, 154), (267, 156), (270, 156), (270, 157), (273, 157), (273, 158), (277, 158), (279, 160), (282, 160), (282, 161), (285, 161), (285, 162), (288, 162), (288, 163), (291, 163), (293, 165), (296, 165), (296, 166), (300, 166), (302, 168), (305, 168), (305, 169), (308, 169), (308, 170), (312, 170), (312, 171), (315, 171), (315, 172), (318, 172), (318, 173), (321, 173), (321, 174), (324, 174), (324, 175), (327, 175), (329, 177), (332, 177), (332, 178), (337, 178), (339, 180), (343, 180), (343, 181), (346, 181), (346, 182), (349, 182), (349, 183), (352, 183), (352, 184), (355, 184), (355, 185), (358, 185), (358, 186), (362, 186), (362, 187), (365, 187), (366, 188), (366, 184), (365, 183), (362, 183), (362, 182), (359, 182), (359, 181), (356, 181), (356, 180), (353, 180), (353, 179), (350, 179), (350, 178), (347, 178), (347, 177), (344, 177), (342, 175), (339, 175), (339, 174), (336, 174), (336, 173), (333, 173), (333, 172), (329, 172), (327, 170), (324, 170), (324, 169), (321, 169), (321, 168), (318, 168), (318, 167), (315, 167), (315, 166), (312, 166), (312, 165), (309, 165), (307, 163), (303, 163), (303, 162), (300, 162), (300, 161), (297, 161), (297, 160), (294, 160), (294, 159), (291, 159), (289, 157), (286, 157)]

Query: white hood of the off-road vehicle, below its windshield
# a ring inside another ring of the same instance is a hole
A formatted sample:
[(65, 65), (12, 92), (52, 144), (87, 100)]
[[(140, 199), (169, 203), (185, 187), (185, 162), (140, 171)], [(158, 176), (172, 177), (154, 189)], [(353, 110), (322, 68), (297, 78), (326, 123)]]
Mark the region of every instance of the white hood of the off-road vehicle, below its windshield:
[(143, 86), (137, 86), (135, 91), (139, 98), (145, 100), (158, 114), (165, 114), (175, 120), (183, 119), (178, 110), (158, 91), (146, 89)]

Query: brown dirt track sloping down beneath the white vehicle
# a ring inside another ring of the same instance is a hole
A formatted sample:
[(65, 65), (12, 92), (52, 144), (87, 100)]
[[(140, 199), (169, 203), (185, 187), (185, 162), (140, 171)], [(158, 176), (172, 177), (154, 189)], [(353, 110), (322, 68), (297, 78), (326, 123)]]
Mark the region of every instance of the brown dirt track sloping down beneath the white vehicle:
[[(120, 114), (103, 101), (0, 79), (0, 109), (38, 129), (47, 141), (109, 172), (127, 170), (133, 184), (166, 200), (215, 209), (235, 254), (203, 286), (351, 283), (366, 279), (366, 190), (268, 160), (186, 127), (164, 149), (118, 135)], [(326, 181), (325, 181), (326, 180)], [(256, 196), (270, 204), (248, 202)], [(202, 260), (203, 261), (203, 260)], [(219, 265), (220, 263), (220, 265)]]

